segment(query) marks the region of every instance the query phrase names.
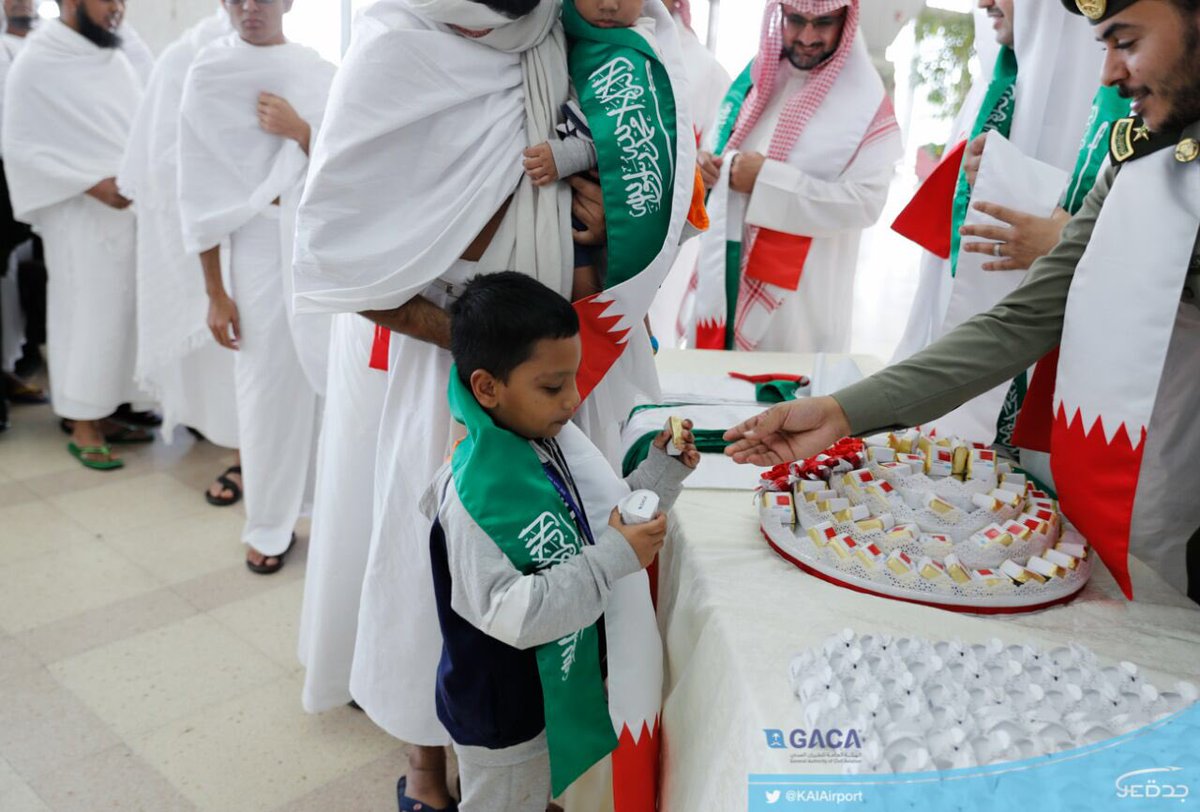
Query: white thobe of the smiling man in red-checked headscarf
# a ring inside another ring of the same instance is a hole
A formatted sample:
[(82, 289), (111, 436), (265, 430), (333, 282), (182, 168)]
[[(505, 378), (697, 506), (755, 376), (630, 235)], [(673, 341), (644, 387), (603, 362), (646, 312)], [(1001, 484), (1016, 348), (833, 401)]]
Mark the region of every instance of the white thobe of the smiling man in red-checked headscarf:
[[(784, 64), (770, 103), (739, 151), (767, 154), (785, 104), (800, 92), (808, 79), (806, 71)], [(822, 109), (848, 103), (847, 97), (830, 95)], [(818, 110), (809, 126), (821, 125)], [(844, 168), (800, 169), (794, 164), (804, 157), (802, 140), (787, 162), (768, 158), (763, 163), (749, 196), (731, 193), (731, 239), (742, 239), (743, 224), (812, 237), (799, 288), (775, 312), (758, 343), (760, 350), (850, 351), (858, 245), (863, 230), (874, 225), (883, 211), (902, 151), (899, 131), (892, 131), (864, 143)], [(744, 216), (738, 216), (739, 210)]]

